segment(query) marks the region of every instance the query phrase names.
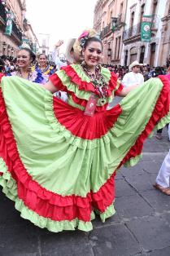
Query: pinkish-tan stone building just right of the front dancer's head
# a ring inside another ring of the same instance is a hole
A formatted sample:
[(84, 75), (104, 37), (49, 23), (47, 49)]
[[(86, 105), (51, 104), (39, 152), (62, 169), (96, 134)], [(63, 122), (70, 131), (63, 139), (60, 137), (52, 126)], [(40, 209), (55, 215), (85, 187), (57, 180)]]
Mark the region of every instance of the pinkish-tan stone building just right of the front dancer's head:
[(94, 29), (103, 42), (104, 64), (120, 64), (127, 0), (99, 0), (94, 9)]

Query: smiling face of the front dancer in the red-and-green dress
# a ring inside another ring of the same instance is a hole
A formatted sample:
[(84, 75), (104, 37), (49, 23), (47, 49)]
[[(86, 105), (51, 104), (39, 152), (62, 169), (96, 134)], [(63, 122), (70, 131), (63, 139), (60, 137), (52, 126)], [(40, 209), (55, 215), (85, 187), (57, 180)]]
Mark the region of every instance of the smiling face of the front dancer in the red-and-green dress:
[(101, 63), (102, 60), (102, 45), (100, 42), (89, 42), (83, 51), (85, 55), (85, 63), (89, 68), (95, 68), (95, 66)]

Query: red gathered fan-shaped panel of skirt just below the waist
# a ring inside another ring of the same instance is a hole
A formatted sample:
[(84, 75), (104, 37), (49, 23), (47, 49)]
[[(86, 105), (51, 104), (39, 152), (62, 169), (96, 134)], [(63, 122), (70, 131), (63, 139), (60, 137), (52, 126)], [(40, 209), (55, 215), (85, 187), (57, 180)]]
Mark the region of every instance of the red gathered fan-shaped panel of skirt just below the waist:
[(81, 139), (101, 139), (114, 126), (122, 112), (120, 104), (117, 104), (109, 112), (105, 110), (89, 117), (81, 109), (73, 108), (57, 98), (54, 98), (53, 106), (59, 123)]

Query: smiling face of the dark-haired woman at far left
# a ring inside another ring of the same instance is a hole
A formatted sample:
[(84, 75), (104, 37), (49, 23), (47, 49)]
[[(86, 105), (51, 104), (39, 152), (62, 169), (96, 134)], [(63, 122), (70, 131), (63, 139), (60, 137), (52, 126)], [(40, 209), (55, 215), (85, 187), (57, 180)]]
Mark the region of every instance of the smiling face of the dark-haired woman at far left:
[(28, 51), (20, 50), (16, 58), (16, 64), (19, 68), (28, 68), (31, 64), (32, 59)]

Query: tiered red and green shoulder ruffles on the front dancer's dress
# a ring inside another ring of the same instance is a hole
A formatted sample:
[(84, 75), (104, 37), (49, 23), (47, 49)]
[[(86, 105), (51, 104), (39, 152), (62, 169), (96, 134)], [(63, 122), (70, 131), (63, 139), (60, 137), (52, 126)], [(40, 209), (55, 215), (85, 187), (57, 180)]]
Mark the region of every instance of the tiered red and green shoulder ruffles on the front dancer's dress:
[[(102, 68), (102, 70), (103, 75), (105, 74), (103, 77), (105, 77), (108, 88), (107, 98), (104, 99), (104, 103), (98, 100), (99, 106), (111, 102), (113, 95), (118, 95), (123, 89), (123, 86), (118, 81), (115, 73), (110, 73), (107, 68)], [(50, 81), (58, 88), (58, 90), (68, 91), (71, 95), (76, 95), (76, 98), (78, 99), (88, 100), (92, 92), (100, 96), (98, 90), (95, 90), (94, 85), (90, 82), (89, 77), (87, 77), (85, 73), (83, 73), (83, 70), (81, 70), (80, 65), (62, 67), (59, 72), (50, 76)]]

